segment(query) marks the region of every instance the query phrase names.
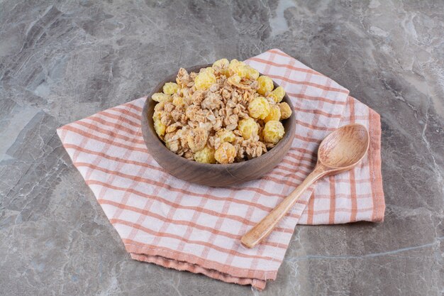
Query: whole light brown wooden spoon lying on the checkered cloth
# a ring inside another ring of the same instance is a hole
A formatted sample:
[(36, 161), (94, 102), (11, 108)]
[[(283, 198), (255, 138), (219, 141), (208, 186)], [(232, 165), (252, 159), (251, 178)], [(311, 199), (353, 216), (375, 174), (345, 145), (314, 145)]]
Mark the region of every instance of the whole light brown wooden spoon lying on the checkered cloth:
[(313, 182), (325, 175), (334, 175), (353, 168), (367, 153), (369, 143), (367, 128), (360, 124), (342, 126), (326, 136), (318, 148), (318, 161), (313, 172), (270, 214), (250, 229), (240, 240), (241, 243), (252, 248), (265, 239)]

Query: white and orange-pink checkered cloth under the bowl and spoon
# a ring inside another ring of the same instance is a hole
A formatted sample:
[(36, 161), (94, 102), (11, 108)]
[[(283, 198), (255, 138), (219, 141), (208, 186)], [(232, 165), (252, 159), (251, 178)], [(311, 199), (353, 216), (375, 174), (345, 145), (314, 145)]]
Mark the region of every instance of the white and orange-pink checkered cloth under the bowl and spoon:
[[(292, 148), (260, 180), (214, 188), (168, 175), (143, 142), (140, 112), (146, 97), (57, 133), (132, 258), (263, 289), (276, 278), (296, 224), (384, 219), (381, 128), (379, 115), (347, 89), (280, 50), (245, 62), (284, 87), (296, 115)], [(370, 150), (362, 162), (319, 180), (259, 246), (241, 246), (240, 237), (313, 169), (321, 140), (353, 122), (370, 131)]]

